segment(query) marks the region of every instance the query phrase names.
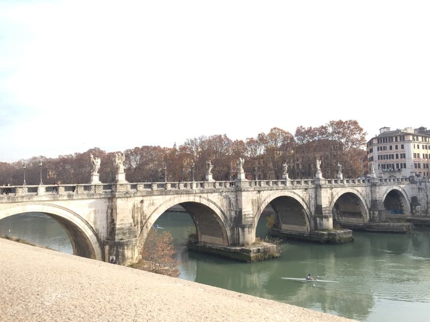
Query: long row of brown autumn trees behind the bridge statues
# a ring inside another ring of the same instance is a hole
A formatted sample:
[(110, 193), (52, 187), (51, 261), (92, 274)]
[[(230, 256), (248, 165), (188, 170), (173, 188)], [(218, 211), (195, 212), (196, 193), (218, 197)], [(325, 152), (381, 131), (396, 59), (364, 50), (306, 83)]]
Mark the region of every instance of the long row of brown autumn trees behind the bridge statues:
[[(141, 146), (124, 151), (126, 179), (129, 182), (196, 181), (204, 180), (206, 161), (213, 164), (215, 180), (230, 180), (236, 174), (236, 161), (245, 159), (244, 170), (249, 177), (258, 172), (258, 179), (281, 179), (282, 164), (289, 164), (290, 179), (312, 178), (315, 160), (322, 160), (323, 171), (332, 171), (340, 162), (345, 177), (361, 174), (366, 133), (355, 120), (330, 121), (317, 128), (296, 129), (295, 135), (280, 128), (260, 133), (245, 141), (231, 140), (225, 134), (188, 139), (179, 146)], [(100, 180), (115, 181), (115, 153), (98, 147), (86, 152), (60, 155), (57, 158), (43, 156), (15, 163), (0, 163), (0, 183), (23, 183), (26, 165), (27, 184), (40, 182), (40, 170), (44, 184), (86, 183), (90, 179), (92, 165), (90, 154), (101, 158)], [(43, 162), (42, 168), (39, 165)], [(335, 173), (335, 171), (333, 171)]]

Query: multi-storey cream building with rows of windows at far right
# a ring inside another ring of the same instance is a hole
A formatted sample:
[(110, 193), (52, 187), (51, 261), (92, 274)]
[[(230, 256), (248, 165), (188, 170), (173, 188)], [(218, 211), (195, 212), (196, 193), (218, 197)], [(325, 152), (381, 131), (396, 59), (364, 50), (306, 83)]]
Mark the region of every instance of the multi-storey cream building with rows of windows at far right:
[(377, 177), (429, 178), (430, 131), (425, 127), (391, 131), (380, 134), (367, 143), (368, 163), (374, 162)]

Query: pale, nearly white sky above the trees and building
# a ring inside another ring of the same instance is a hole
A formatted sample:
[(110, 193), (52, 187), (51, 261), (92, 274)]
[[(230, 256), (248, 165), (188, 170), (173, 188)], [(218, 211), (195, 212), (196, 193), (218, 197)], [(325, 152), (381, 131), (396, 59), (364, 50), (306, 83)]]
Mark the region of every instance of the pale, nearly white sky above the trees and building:
[(430, 128), (430, 1), (0, 0), (0, 162)]

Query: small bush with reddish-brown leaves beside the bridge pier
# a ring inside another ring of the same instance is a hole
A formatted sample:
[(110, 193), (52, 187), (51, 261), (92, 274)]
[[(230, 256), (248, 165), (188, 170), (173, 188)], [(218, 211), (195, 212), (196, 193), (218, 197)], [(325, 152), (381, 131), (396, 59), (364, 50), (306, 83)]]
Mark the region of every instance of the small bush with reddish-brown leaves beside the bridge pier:
[(172, 235), (168, 231), (158, 233), (156, 228), (151, 228), (143, 244), (142, 260), (133, 267), (177, 277), (180, 261), (175, 258), (175, 252)]

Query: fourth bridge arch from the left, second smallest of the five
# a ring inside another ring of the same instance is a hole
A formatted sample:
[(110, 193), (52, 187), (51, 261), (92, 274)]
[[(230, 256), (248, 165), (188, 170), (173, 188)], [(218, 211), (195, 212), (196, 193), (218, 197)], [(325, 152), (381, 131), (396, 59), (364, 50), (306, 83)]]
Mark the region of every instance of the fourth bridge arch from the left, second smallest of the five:
[[(346, 205), (348, 202), (354, 202)], [(332, 211), (334, 221), (345, 221), (346, 223), (364, 224), (369, 222), (369, 206), (366, 199), (359, 190), (343, 187), (332, 198), (329, 209)], [(341, 213), (349, 213), (349, 216), (341, 219)], [(351, 214), (354, 214), (353, 216)], [(361, 218), (358, 218), (360, 214)], [(349, 222), (350, 221), (350, 222)]]

